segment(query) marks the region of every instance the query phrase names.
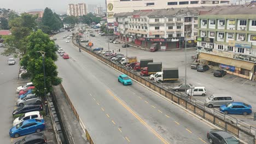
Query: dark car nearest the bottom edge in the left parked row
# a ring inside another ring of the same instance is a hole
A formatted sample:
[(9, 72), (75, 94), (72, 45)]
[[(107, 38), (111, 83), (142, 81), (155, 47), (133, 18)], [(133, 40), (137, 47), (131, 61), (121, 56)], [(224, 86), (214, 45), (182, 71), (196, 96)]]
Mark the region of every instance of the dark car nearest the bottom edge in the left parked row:
[(43, 133), (35, 133), (25, 136), (23, 139), (15, 142), (14, 144), (47, 144), (47, 139)]

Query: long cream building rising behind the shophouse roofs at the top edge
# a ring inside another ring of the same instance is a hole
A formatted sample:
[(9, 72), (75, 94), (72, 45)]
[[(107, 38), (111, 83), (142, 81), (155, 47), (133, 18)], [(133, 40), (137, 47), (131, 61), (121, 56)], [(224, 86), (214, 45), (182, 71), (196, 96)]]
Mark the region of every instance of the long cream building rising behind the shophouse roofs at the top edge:
[[(220, 6), (230, 4), (231, 0), (141, 0), (141, 1), (127, 1), (127, 0), (106, 0), (107, 6), (107, 20), (108, 23), (114, 22), (114, 14), (123, 12), (132, 12), (133, 10), (148, 10), (148, 9), (171, 9), (171, 8), (189, 8), (189, 7), (206, 7), (206, 6)], [(110, 25), (110, 24), (109, 24)], [(113, 28), (110, 27), (110, 28)]]

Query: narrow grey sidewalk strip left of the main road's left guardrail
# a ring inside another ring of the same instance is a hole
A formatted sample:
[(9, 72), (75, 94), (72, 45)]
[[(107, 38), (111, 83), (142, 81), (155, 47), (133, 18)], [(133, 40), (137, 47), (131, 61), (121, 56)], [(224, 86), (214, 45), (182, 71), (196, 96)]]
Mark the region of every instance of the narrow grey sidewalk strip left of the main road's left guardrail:
[(59, 115), (67, 133), (68, 143), (89, 143), (60, 86), (54, 86), (53, 88)]

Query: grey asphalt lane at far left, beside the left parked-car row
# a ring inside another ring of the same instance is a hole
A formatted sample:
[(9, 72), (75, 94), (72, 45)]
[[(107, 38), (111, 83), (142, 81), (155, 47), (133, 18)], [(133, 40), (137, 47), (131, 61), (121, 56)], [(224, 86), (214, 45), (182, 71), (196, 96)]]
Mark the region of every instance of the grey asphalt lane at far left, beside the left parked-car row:
[[(4, 48), (0, 47), (0, 53), (4, 51)], [(5, 57), (0, 55), (0, 143), (10, 143), (11, 139), (9, 136), (9, 130), (13, 125), (13, 117), (11, 113), (14, 110), (14, 102), (17, 88), (17, 79), (19, 67), (16, 63), (15, 65), (8, 65), (8, 58), (13, 58), (11, 56)], [(18, 61), (16, 61), (18, 62)]]

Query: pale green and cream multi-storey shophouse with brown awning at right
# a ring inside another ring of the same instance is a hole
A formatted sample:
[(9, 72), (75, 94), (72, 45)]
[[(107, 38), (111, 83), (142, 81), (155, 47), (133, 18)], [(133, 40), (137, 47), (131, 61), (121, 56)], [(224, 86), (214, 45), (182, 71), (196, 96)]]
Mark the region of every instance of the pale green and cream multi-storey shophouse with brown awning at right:
[(256, 8), (213, 9), (199, 15), (199, 60), (230, 74), (256, 75)]

